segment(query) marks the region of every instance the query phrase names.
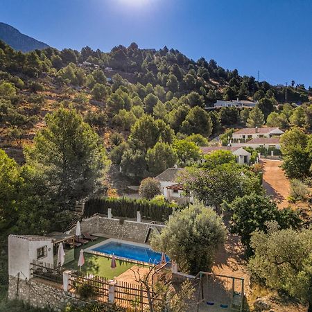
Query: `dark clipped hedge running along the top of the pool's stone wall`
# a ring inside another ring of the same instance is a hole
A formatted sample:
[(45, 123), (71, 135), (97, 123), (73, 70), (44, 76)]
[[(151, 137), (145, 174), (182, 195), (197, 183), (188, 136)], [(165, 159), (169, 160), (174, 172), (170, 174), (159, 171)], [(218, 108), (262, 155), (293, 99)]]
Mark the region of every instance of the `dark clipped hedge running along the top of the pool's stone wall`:
[(182, 207), (165, 203), (155, 203), (149, 200), (133, 200), (129, 198), (92, 198), (85, 203), (84, 216), (89, 218), (94, 214), (106, 214), (108, 208), (112, 215), (122, 218), (137, 218), (137, 211), (146, 220), (164, 222), (173, 213), (173, 209)]

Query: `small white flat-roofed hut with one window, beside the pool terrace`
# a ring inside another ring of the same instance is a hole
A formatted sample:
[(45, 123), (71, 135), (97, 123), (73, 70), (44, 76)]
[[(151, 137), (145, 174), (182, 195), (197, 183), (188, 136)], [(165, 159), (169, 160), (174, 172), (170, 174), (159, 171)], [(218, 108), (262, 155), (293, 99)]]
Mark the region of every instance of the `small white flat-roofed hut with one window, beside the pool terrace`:
[(31, 278), (33, 260), (53, 265), (53, 241), (46, 236), (10, 235), (8, 237), (8, 274)]

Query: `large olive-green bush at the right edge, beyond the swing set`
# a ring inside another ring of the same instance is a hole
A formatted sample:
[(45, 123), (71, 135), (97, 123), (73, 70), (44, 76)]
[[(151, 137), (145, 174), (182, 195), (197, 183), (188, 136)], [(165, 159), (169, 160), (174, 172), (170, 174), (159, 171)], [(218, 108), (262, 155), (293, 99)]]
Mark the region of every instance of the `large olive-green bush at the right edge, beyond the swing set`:
[(312, 230), (279, 230), (267, 223), (267, 231), (254, 232), (254, 257), (248, 263), (252, 277), (266, 287), (312, 304)]

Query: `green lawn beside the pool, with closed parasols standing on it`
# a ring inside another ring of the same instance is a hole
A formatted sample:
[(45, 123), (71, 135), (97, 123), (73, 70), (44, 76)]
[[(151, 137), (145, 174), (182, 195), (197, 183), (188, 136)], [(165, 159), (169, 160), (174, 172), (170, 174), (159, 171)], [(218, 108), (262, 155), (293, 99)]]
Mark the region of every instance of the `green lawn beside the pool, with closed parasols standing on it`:
[[(87, 243), (79, 248), (75, 248), (75, 261), (71, 261), (65, 264), (66, 268), (69, 269), (76, 269), (78, 270), (79, 267), (77, 266), (79, 253), (81, 248), (85, 249), (97, 243), (101, 243), (101, 241), (105, 241), (104, 238), (99, 237), (96, 241)], [(81, 268), (82, 271), (92, 273), (94, 275), (99, 275), (103, 277), (107, 277), (107, 279), (112, 279), (114, 276), (121, 275), (121, 273), (131, 268), (134, 264), (130, 262), (120, 261), (116, 259), (116, 268), (113, 270), (110, 268), (110, 263), (112, 260), (110, 258), (97, 256), (94, 254), (89, 254), (84, 252), (85, 256), (85, 264)]]

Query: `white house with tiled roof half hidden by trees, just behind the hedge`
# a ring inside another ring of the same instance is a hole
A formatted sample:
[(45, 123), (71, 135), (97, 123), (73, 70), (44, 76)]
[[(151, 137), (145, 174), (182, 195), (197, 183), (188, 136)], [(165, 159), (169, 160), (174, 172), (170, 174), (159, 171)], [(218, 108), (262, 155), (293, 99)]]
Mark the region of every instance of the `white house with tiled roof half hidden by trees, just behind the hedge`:
[(183, 168), (168, 168), (155, 177), (155, 180), (160, 183), (162, 195), (167, 200), (175, 200), (181, 204), (193, 202), (193, 198), (185, 195), (184, 192), (184, 184), (181, 181), (184, 171)]

